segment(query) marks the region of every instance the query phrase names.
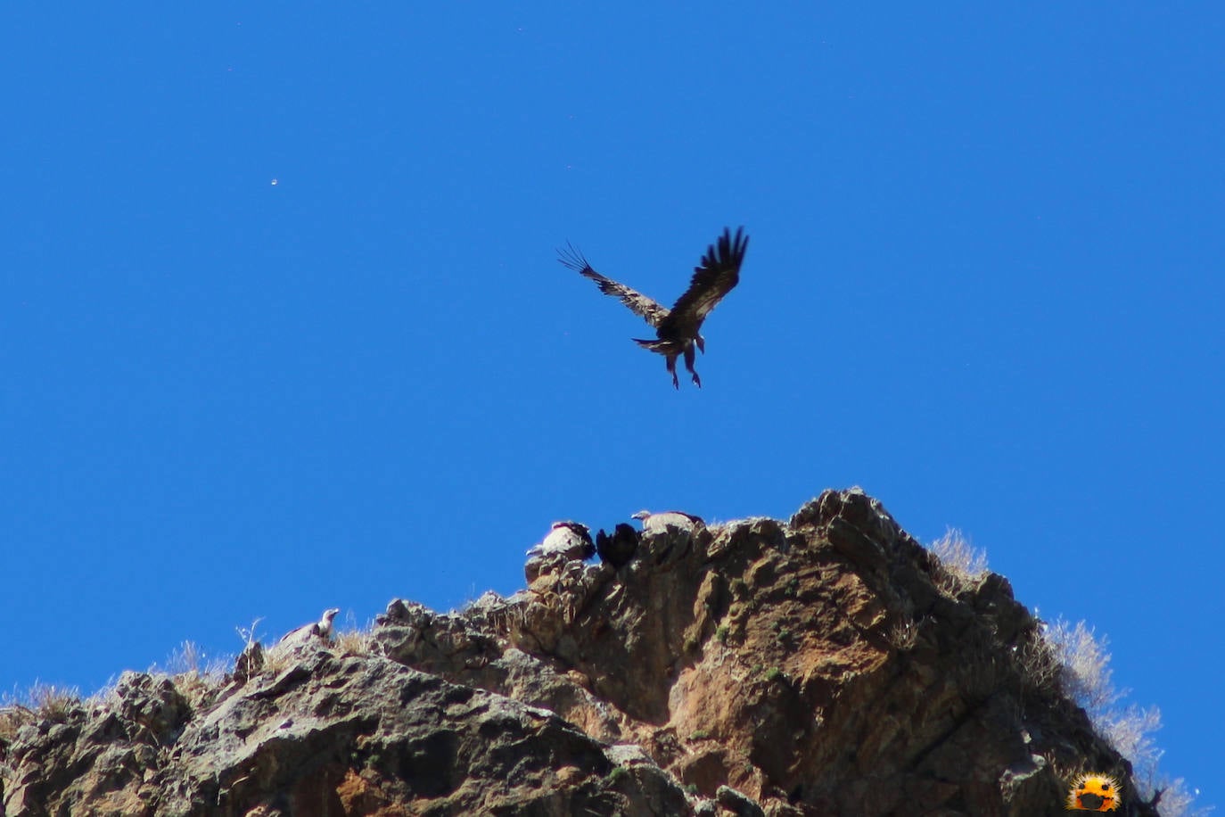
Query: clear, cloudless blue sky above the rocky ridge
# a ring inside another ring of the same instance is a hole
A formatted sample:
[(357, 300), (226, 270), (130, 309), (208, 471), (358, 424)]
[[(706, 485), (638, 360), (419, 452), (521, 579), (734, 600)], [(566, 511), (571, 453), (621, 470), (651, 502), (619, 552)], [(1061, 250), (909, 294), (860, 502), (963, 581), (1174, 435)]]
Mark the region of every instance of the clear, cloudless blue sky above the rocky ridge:
[[(0, 683), (861, 485), (1225, 802), (1225, 12), (658, 5), (5, 5)], [(702, 391), (556, 262), (670, 303), (740, 224)]]

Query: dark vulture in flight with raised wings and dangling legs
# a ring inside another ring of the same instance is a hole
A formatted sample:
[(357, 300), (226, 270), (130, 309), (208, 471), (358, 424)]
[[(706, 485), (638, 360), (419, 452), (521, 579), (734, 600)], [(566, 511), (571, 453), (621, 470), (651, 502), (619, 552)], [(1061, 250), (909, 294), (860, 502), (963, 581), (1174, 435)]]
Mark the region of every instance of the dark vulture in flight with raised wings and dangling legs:
[(690, 288), (676, 299), (671, 309), (595, 272), (583, 254), (570, 244), (557, 254), (561, 256), (559, 258), (561, 263), (594, 280), (605, 295), (620, 298), (631, 311), (655, 327), (654, 341), (633, 338), (633, 342), (668, 359), (668, 371), (673, 375), (674, 387), (681, 387), (676, 377), (676, 358), (684, 355), (685, 367), (701, 388), (702, 378), (693, 370), (693, 347), (706, 354), (706, 338), (699, 332), (702, 321), (740, 280), (740, 265), (748, 246), (748, 236), (744, 233), (742, 227), (736, 229), (735, 235), (730, 228), (724, 228), (719, 240), (707, 247), (701, 263), (693, 268)]

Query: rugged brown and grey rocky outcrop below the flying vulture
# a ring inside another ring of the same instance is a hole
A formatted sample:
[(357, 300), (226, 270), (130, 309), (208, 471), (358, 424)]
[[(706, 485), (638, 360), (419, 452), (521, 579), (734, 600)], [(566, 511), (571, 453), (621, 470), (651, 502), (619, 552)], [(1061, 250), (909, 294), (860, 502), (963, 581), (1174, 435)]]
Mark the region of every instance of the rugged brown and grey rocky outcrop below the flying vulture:
[[(397, 600), (360, 648), (206, 693), (125, 674), (0, 741), (5, 815), (1063, 813), (1072, 773), (1131, 768), (1040, 671), (1038, 626), (826, 491), (463, 612)], [(1116, 813), (1156, 812), (1125, 789)]]

